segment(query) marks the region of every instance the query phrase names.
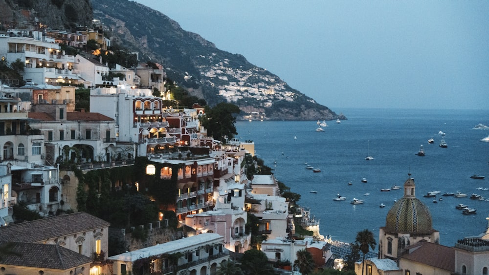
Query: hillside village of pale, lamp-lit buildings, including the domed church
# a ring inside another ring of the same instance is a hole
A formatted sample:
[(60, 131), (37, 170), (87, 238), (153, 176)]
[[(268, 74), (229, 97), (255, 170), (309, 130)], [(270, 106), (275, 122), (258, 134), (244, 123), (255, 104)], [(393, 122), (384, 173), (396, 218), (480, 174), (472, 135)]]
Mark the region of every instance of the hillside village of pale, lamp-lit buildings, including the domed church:
[[(198, 104), (165, 107), (172, 91), (159, 64), (110, 68), (60, 46), (90, 41), (111, 44), (96, 24), (0, 33), (2, 61), (20, 61), (26, 83), (0, 85), (0, 247), (10, 251), (1, 254), (0, 274), (214, 275), (253, 249), (284, 274), (302, 251), (314, 270), (341, 269), (334, 259), (346, 255), (333, 253), (338, 245), (319, 234), (319, 221), (284, 196), (273, 174), (258, 172), (252, 141), (209, 136)], [(219, 77), (218, 67), (207, 74)], [(245, 73), (237, 79), (245, 83)], [(89, 88), (89, 111), (75, 111), (78, 87)], [(222, 94), (293, 98), (280, 86), (250, 87)], [(440, 245), (415, 188), (409, 177), (379, 228), (378, 254), (356, 261), (356, 274), (488, 274), (489, 226)], [(22, 221), (14, 211), (22, 207), (40, 218)], [(304, 229), (312, 235), (298, 233)]]

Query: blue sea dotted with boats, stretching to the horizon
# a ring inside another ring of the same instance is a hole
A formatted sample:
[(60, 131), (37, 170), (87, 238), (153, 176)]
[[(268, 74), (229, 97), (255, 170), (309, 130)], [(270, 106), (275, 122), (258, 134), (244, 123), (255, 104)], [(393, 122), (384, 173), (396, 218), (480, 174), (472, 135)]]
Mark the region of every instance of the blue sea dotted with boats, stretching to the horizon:
[[(489, 143), (481, 142), (488, 130), (473, 129), (479, 123), (489, 125), (488, 110), (421, 109), (334, 109), (348, 120), (340, 124), (327, 121), (324, 132), (316, 132), (316, 121), (238, 121), (240, 140), (252, 140), (256, 155), (275, 171), (278, 180), (299, 193), (299, 205), (310, 208), (320, 219), (320, 233), (333, 240), (353, 242), (356, 233), (369, 229), (378, 240), (379, 227), (400, 190), (381, 192), (392, 185), (401, 186), (408, 173), (416, 184), (416, 197), (429, 207), (433, 228), (440, 242), (453, 246), (464, 236), (478, 235), (488, 226), (489, 201), (469, 199), (476, 193), (489, 198)], [(440, 148), (442, 136), (448, 148)], [(295, 138), (294, 138), (295, 137)], [(434, 144), (428, 144), (433, 137)], [(370, 146), (369, 146), (370, 142)], [(417, 156), (423, 145), (425, 156)], [(364, 158), (370, 150), (374, 160)], [(306, 163), (321, 169), (313, 173)], [(473, 174), (486, 179), (471, 179)], [(361, 179), (366, 178), (367, 183)], [(348, 185), (352, 182), (352, 185)], [(317, 193), (311, 193), (316, 190)], [(433, 203), (424, 198), (429, 191), (467, 193), (466, 198), (443, 197)], [(370, 195), (365, 196), (365, 193)], [(336, 194), (346, 201), (333, 201)], [(353, 198), (365, 200), (352, 205)], [(386, 205), (379, 208), (379, 204)], [(463, 215), (458, 203), (477, 209)]]

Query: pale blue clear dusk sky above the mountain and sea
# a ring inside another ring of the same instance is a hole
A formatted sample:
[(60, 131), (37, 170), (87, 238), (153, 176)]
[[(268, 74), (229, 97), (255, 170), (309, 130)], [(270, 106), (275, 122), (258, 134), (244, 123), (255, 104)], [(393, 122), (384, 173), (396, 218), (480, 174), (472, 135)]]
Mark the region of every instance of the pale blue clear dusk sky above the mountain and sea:
[(136, 2), (333, 110), (489, 110), (487, 0)]

